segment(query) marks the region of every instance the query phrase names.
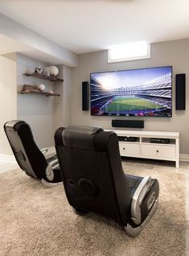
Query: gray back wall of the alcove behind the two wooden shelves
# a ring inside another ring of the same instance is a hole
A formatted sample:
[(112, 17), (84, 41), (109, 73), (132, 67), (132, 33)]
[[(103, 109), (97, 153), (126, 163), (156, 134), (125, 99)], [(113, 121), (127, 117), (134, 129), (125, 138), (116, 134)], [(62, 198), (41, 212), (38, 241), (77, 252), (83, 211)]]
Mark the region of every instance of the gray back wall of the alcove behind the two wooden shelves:
[[(52, 83), (32, 76), (23, 76), (24, 72), (33, 72), (36, 67), (43, 68), (47, 66), (39, 60), (30, 57), (17, 55), (17, 85), (18, 90), (22, 85), (43, 84), (46, 91), (55, 92), (55, 87), (62, 87), (62, 82)], [(58, 105), (59, 108), (59, 101)], [(55, 97), (45, 97), (41, 95), (18, 94), (17, 115), (18, 119), (26, 121), (34, 134), (35, 142), (39, 148), (51, 147), (54, 145), (55, 130)]]

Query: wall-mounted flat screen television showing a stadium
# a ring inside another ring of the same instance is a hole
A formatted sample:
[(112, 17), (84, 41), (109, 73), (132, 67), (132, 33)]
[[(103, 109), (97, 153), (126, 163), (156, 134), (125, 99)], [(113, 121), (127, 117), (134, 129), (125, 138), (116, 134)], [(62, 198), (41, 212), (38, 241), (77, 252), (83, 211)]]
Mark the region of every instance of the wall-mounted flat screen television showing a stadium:
[(172, 116), (172, 67), (90, 74), (91, 115)]

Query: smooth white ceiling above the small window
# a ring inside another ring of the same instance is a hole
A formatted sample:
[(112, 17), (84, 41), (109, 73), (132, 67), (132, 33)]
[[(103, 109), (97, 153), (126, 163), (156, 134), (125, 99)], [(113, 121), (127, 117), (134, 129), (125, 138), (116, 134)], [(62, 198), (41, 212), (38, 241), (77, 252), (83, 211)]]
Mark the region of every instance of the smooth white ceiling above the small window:
[(189, 0), (0, 0), (0, 11), (76, 53), (189, 37)]

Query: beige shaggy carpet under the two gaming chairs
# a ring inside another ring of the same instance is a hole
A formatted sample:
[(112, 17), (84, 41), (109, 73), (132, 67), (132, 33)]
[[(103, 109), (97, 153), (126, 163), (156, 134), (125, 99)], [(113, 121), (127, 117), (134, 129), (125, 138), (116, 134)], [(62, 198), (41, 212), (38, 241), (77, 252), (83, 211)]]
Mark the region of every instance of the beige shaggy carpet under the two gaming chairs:
[(126, 167), (160, 183), (157, 212), (142, 233), (124, 229), (95, 214), (77, 216), (62, 184), (45, 188), (22, 171), (0, 175), (0, 255), (182, 256), (185, 250), (184, 176), (172, 169)]

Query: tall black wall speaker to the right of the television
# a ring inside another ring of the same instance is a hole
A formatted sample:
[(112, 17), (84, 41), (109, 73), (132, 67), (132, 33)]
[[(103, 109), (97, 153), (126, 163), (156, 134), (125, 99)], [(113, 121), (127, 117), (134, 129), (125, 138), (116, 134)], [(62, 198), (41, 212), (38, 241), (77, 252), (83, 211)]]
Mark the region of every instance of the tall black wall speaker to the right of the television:
[(186, 109), (186, 74), (176, 75), (176, 109)]

